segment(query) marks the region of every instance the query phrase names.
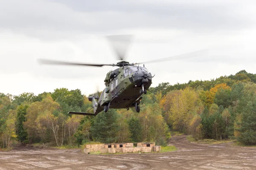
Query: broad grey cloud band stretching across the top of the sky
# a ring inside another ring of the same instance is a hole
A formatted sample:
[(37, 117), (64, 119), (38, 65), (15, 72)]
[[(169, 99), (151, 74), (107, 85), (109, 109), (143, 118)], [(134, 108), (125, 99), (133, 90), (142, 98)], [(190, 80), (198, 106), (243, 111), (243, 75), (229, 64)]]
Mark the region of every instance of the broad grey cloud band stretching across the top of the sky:
[(253, 26), (250, 13), (244, 14), (247, 6), (184, 0), (8, 0), (0, 5), (0, 28), (44, 40), (128, 28), (237, 30)]

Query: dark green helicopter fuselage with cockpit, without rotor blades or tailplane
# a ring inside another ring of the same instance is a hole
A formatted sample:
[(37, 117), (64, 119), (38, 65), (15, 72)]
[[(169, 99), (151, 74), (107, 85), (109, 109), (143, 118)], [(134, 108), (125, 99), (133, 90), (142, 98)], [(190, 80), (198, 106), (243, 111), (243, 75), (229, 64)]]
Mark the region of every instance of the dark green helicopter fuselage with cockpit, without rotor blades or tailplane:
[(145, 67), (124, 66), (110, 71), (105, 79), (106, 88), (102, 91), (94, 113), (108, 108), (132, 108), (140, 104), (142, 89), (145, 91), (152, 83), (152, 75)]

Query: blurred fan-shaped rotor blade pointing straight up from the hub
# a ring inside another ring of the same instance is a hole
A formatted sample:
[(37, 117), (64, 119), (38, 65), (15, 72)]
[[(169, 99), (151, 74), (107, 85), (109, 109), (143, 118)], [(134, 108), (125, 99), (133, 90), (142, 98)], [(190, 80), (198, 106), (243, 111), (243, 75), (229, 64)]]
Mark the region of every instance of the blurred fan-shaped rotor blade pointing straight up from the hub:
[(106, 38), (111, 42), (118, 59), (124, 60), (132, 35), (108, 35)]

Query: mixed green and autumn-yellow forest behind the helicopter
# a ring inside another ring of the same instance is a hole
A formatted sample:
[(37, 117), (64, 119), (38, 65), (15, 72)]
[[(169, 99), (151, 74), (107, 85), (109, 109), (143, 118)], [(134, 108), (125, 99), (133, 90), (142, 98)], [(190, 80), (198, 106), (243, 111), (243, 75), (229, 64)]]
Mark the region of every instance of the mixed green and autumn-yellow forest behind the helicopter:
[(143, 96), (140, 113), (131, 108), (110, 109), (95, 117), (67, 114), (87, 111), (91, 105), (79, 89), (58, 88), (38, 95), (0, 93), (0, 148), (17, 143), (166, 145), (172, 132), (190, 134), (196, 140), (256, 144), (256, 74), (244, 70), (206, 81), (163, 82)]

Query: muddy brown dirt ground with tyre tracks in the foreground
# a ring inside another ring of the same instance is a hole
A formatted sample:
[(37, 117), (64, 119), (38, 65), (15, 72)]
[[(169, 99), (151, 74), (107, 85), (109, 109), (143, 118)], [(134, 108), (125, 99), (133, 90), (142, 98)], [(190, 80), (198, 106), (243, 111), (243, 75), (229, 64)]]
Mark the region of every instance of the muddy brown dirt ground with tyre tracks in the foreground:
[(85, 155), (80, 150), (18, 148), (0, 152), (0, 170), (256, 170), (256, 148), (170, 142), (169, 153)]

